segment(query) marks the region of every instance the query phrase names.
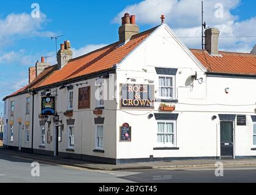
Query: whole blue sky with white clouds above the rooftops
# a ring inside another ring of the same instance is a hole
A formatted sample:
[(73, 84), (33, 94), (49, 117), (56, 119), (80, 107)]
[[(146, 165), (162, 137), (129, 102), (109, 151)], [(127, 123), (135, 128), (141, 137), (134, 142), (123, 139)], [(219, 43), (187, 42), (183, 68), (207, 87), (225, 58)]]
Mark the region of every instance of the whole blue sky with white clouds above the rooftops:
[[(40, 18), (31, 18), (31, 4), (40, 5)], [(224, 16), (214, 17), (216, 5), (222, 2)], [(180, 37), (200, 37), (200, 0), (9, 0), (0, 7), (0, 98), (28, 82), (28, 68), (41, 55), (53, 55), (55, 42), (51, 35), (64, 35), (59, 43), (70, 40), (75, 55), (82, 55), (118, 40), (120, 17), (124, 12), (137, 15), (140, 30), (160, 24), (160, 15)], [(205, 20), (216, 26), (223, 36), (256, 37), (256, 1), (205, 0)], [(189, 48), (200, 48), (200, 38), (184, 38)], [(256, 38), (223, 38), (220, 49), (249, 52)], [(0, 103), (0, 115), (2, 112)]]

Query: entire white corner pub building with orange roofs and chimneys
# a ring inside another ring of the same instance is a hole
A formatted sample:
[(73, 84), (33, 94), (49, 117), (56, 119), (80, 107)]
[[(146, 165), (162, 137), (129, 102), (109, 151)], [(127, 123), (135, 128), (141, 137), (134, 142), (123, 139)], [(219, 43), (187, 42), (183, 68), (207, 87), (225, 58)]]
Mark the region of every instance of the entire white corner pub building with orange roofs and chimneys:
[(219, 51), (219, 33), (188, 49), (126, 13), (116, 43), (72, 59), (65, 41), (4, 98), (4, 145), (113, 164), (256, 157), (255, 50)]

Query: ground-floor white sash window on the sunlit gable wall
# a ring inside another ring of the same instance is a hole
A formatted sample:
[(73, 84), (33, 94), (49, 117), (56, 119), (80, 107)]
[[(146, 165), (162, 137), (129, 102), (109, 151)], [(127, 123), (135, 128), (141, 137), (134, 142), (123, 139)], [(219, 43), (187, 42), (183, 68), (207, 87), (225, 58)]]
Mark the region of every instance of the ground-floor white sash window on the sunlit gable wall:
[(157, 122), (157, 145), (175, 146), (175, 122)]

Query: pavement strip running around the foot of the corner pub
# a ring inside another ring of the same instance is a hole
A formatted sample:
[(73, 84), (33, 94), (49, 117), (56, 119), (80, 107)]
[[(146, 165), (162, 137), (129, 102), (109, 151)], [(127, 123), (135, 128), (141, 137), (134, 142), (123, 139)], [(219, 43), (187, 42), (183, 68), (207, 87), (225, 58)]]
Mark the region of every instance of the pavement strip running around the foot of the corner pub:
[(75, 166), (77, 168), (94, 169), (102, 171), (140, 170), (140, 169), (180, 169), (180, 168), (214, 168), (216, 162), (221, 161), (224, 166), (256, 166), (256, 158), (236, 160), (173, 160), (151, 161), (146, 163), (129, 163), (121, 165), (109, 165), (84, 160), (72, 160), (68, 158), (50, 157), (46, 155), (29, 154), (18, 151), (10, 151), (0, 147), (0, 153), (5, 152), (14, 157), (39, 161), (39, 163), (55, 163), (58, 165)]

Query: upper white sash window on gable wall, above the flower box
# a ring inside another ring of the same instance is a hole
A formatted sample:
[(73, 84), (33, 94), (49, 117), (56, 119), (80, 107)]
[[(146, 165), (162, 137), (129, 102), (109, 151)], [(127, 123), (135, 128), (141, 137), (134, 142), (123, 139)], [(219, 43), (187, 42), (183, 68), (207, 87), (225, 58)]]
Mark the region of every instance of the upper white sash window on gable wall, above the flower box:
[(159, 96), (162, 98), (174, 99), (174, 76), (159, 77)]

